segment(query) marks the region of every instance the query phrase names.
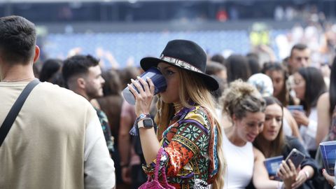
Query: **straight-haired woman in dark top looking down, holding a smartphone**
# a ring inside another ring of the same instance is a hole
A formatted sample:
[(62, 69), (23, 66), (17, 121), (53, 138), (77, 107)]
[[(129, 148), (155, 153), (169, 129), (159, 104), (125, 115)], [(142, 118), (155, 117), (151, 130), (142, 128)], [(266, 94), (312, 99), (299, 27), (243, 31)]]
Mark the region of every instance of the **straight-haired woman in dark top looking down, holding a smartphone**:
[(317, 167), (309, 153), (304, 149), (300, 141), (294, 137), (285, 137), (282, 130), (283, 106), (274, 97), (264, 97), (266, 102), (265, 123), (262, 132), (256, 137), (253, 146), (258, 148), (265, 158), (283, 155), (286, 158), (293, 148), (304, 153), (305, 158), (298, 169), (290, 169), (286, 162), (282, 162), (278, 171), (280, 179), (286, 178), (288, 172), (296, 175), (292, 188), (314, 188), (307, 182), (317, 175)]

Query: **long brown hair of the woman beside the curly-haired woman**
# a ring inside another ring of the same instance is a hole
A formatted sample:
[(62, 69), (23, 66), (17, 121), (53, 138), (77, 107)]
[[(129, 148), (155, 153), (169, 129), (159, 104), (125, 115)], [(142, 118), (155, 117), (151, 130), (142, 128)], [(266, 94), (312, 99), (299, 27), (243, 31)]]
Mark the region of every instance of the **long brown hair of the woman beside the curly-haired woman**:
[(262, 144), (265, 144), (265, 143), (269, 142), (265, 139), (265, 137), (262, 135), (262, 133), (258, 134), (258, 137), (256, 137), (255, 140), (253, 141), (253, 146), (255, 146), (255, 148), (258, 148), (258, 150), (260, 150), (265, 155), (265, 158), (270, 158), (270, 157), (274, 157), (274, 156), (277, 156), (277, 155), (281, 155), (282, 149), (286, 145), (285, 144), (285, 137), (284, 137), (283, 129), (282, 129), (282, 125), (283, 125), (283, 106), (282, 106), (281, 102), (279, 102), (279, 100), (274, 98), (274, 97), (264, 97), (264, 99), (265, 99), (265, 102), (266, 102), (266, 106), (270, 106), (272, 104), (278, 104), (281, 107), (281, 111), (282, 111), (281, 127), (280, 127), (280, 130), (279, 130), (279, 134), (278, 134), (278, 136), (276, 136), (274, 141), (270, 141), (271, 145), (269, 146), (269, 149), (265, 149), (265, 147), (262, 147)]

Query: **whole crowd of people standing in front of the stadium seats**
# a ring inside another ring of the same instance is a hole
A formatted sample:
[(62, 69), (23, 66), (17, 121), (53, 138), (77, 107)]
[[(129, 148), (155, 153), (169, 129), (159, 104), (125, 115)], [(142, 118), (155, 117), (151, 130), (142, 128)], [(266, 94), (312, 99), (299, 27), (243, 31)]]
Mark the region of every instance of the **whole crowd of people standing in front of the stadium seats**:
[[(38, 70), (39, 53), (33, 23), (0, 18), (0, 123), (41, 82), (10, 130), (0, 127), (0, 188), (146, 188), (148, 178), (164, 188), (335, 186), (318, 146), (336, 136), (336, 58), (321, 71), (304, 43), (261, 62), (258, 53), (210, 56), (176, 39), (124, 69), (73, 55)], [(157, 95), (139, 77), (152, 67), (167, 83)], [(304, 154), (300, 165), (282, 161), (270, 175), (265, 160), (285, 160), (293, 148)]]

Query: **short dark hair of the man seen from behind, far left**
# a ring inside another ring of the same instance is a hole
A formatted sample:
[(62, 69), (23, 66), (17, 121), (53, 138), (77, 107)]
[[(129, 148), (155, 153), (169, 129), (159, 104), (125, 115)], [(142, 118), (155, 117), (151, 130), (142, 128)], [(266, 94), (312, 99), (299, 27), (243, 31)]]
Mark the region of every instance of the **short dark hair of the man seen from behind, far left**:
[(0, 56), (10, 64), (26, 64), (34, 55), (35, 25), (20, 16), (0, 18)]

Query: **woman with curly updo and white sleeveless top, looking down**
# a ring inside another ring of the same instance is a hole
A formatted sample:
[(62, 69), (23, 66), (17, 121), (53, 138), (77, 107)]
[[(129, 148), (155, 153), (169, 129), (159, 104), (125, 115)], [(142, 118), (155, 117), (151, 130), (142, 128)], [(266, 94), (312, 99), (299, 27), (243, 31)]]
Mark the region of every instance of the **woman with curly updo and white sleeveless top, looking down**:
[[(290, 188), (295, 180), (293, 175), (284, 172), (283, 182), (270, 180), (263, 165), (265, 157), (252, 144), (265, 122), (265, 101), (260, 92), (253, 85), (236, 80), (225, 91), (222, 103), (224, 113), (232, 121), (232, 126), (223, 132), (223, 150), (228, 165), (224, 188), (246, 188), (250, 182), (255, 188)], [(294, 167), (291, 162), (290, 167)]]

